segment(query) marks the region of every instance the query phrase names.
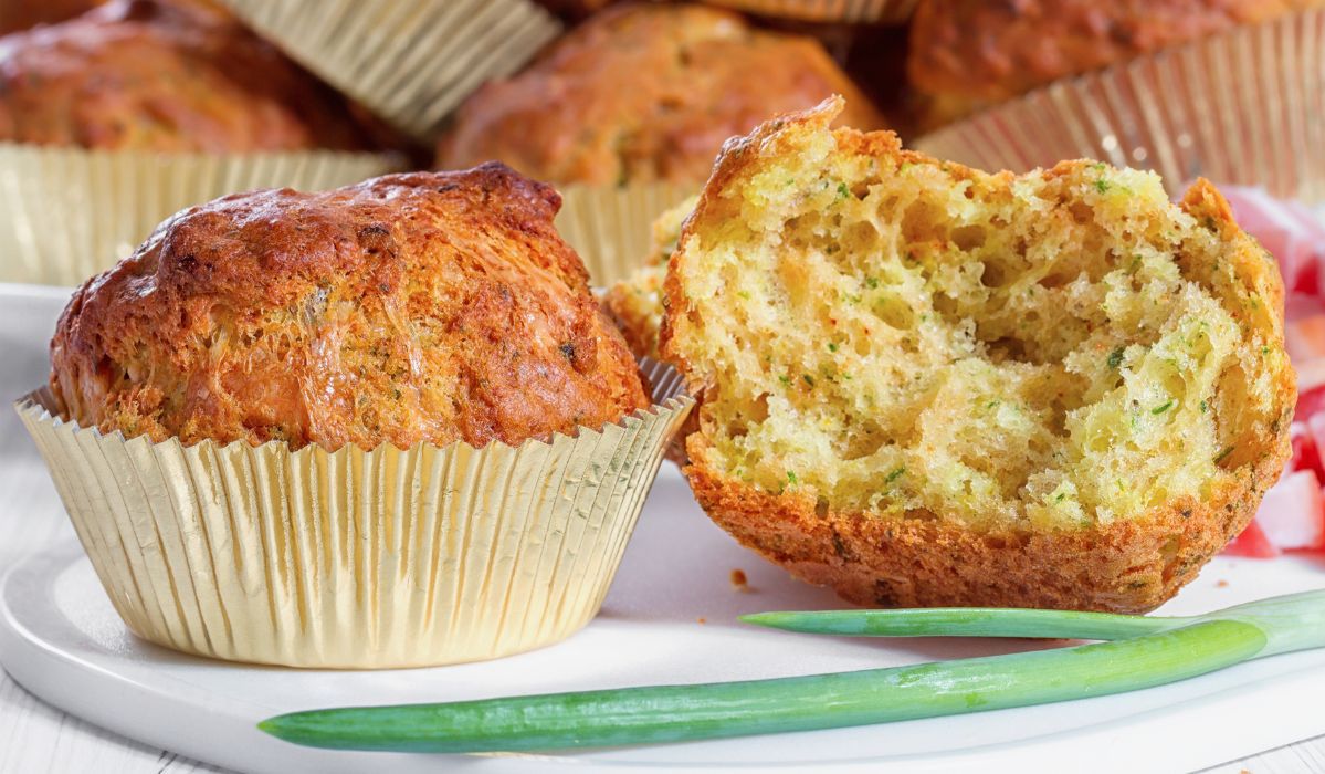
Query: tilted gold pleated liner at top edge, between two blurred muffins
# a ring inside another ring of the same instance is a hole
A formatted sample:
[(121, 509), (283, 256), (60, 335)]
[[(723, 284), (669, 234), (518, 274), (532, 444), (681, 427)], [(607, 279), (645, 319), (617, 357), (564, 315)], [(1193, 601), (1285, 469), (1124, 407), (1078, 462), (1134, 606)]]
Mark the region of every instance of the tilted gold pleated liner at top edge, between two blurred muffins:
[(560, 33), (530, 0), (223, 0), (258, 34), (431, 140), (452, 107)]

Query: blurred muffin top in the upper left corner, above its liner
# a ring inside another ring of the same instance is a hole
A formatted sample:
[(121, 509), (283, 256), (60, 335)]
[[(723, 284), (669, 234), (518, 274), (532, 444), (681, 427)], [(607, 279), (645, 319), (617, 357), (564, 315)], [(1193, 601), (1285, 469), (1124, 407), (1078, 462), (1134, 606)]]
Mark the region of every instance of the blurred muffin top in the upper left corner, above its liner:
[(368, 147), (347, 102), (204, 3), (118, 0), (0, 38), (0, 140), (245, 152)]

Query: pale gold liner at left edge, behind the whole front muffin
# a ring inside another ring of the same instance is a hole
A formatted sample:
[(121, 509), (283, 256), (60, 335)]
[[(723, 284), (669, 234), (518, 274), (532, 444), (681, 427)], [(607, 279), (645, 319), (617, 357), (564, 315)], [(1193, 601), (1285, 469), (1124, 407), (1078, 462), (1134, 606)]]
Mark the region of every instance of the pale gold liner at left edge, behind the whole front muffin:
[(333, 151), (205, 155), (0, 143), (0, 282), (80, 285), (186, 207), (253, 188), (334, 188), (399, 163)]

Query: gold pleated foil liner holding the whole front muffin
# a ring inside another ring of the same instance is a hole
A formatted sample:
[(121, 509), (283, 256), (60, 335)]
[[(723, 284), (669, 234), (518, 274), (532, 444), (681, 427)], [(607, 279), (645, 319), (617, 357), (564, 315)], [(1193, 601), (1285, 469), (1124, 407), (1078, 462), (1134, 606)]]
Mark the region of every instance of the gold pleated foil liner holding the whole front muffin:
[(693, 402), (484, 448), (327, 452), (125, 440), (16, 408), (115, 610), (138, 636), (236, 661), (419, 667), (555, 643), (598, 612)]

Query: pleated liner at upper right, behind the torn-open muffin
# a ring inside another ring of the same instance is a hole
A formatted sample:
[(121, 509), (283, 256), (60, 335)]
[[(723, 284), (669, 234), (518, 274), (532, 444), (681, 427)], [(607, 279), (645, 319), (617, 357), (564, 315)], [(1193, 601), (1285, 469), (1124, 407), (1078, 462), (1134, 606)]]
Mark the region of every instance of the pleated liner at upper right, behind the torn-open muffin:
[(1093, 158), (1325, 200), (1325, 11), (1242, 27), (1063, 80), (914, 144), (984, 170)]

